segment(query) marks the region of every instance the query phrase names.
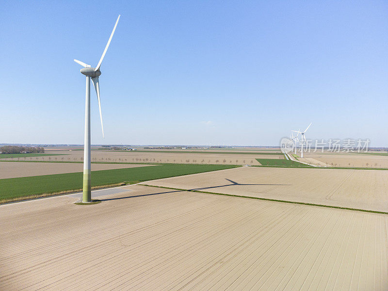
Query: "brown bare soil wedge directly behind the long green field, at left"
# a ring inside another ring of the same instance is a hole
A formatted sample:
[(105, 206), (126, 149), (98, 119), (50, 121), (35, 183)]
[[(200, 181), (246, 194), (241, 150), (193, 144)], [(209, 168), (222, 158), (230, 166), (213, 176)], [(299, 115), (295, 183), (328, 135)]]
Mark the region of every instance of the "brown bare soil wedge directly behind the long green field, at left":
[[(151, 166), (143, 164), (92, 164), (92, 171)], [(31, 177), (83, 171), (82, 163), (66, 162), (0, 162), (0, 179)]]

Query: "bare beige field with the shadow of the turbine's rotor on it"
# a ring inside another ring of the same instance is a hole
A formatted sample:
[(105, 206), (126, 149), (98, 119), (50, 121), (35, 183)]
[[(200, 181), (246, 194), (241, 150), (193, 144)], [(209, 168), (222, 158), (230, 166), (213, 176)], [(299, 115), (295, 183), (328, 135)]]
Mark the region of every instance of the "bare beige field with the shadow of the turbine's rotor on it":
[(388, 211), (388, 173), (380, 170), (241, 167), (144, 184)]

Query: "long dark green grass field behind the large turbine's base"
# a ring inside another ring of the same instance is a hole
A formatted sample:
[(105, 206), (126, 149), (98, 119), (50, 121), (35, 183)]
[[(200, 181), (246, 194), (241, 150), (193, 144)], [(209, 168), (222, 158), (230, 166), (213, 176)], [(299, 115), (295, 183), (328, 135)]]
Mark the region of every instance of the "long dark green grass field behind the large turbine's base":
[[(139, 168), (114, 169), (92, 172), (92, 187), (127, 182), (169, 178), (234, 168), (235, 165), (168, 164)], [(82, 188), (82, 173), (67, 173), (23, 178), (0, 179), (0, 203), (44, 193), (59, 193)]]

